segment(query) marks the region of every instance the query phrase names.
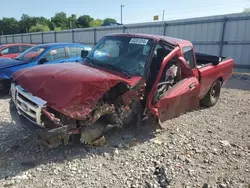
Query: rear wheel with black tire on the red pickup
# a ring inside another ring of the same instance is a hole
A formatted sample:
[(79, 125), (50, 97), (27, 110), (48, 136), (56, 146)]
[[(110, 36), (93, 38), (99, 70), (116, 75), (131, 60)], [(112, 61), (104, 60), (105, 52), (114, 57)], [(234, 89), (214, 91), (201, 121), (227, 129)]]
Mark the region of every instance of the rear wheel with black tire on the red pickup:
[(205, 97), (201, 100), (201, 104), (207, 107), (214, 106), (220, 97), (220, 91), (221, 91), (221, 82), (219, 80), (216, 80)]

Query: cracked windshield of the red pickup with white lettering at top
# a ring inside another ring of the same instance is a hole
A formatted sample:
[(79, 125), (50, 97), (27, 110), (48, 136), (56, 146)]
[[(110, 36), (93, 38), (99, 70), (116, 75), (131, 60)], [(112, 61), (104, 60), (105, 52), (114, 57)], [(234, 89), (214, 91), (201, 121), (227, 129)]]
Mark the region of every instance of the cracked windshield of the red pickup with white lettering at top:
[(153, 47), (153, 39), (126, 36), (106, 36), (90, 51), (86, 60), (123, 73), (125, 76), (143, 76)]

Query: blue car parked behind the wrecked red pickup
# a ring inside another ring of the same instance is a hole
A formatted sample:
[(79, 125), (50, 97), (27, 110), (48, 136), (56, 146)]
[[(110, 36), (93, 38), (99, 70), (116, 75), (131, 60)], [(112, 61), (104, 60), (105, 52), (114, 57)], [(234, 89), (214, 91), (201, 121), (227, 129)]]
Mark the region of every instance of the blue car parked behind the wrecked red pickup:
[(21, 69), (41, 64), (81, 62), (81, 51), (91, 47), (78, 43), (49, 43), (36, 45), (14, 59), (0, 59), (0, 91), (8, 93), (11, 75)]

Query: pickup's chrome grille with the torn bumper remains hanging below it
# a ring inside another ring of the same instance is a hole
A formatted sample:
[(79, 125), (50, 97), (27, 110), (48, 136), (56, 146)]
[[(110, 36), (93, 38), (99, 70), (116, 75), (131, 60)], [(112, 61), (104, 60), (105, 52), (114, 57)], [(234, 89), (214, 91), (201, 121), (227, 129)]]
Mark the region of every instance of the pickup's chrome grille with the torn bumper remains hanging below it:
[[(42, 130), (36, 132), (37, 139), (47, 147), (54, 148), (62, 143), (67, 144), (70, 135), (80, 134), (79, 130), (74, 130), (74, 126), (63, 126), (59, 119), (46, 110), (46, 101), (28, 93), (20, 85), (12, 83), (10, 94), (18, 114), (42, 128)], [(54, 122), (57, 127), (54, 129), (46, 128), (45, 123), (42, 121), (43, 116)]]

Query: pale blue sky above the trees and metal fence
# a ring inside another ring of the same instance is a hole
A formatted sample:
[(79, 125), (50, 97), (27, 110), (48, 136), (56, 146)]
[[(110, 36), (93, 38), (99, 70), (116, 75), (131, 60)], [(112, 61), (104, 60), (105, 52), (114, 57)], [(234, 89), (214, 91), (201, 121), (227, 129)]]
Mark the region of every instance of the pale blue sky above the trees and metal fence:
[(201, 17), (242, 12), (250, 7), (250, 0), (5, 0), (1, 2), (1, 17), (20, 19), (23, 13), (30, 16), (52, 17), (56, 12), (67, 15), (88, 14), (94, 18), (115, 18), (120, 22), (120, 5), (123, 4), (123, 23), (153, 21), (154, 15), (162, 20)]

